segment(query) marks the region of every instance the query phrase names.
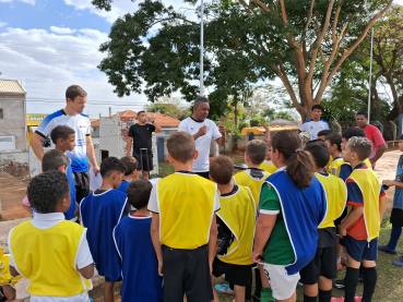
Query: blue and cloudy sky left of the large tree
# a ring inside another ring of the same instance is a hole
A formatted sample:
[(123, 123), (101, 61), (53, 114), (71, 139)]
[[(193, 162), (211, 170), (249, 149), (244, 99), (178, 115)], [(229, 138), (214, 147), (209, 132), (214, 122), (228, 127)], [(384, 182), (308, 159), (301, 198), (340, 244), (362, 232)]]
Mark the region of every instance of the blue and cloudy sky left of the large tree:
[[(164, 3), (185, 7), (180, 0)], [(403, 0), (394, 3), (403, 5)], [(130, 0), (115, 0), (110, 12), (96, 10), (91, 0), (0, 0), (0, 78), (22, 81), (27, 113), (63, 108), (72, 84), (87, 92), (84, 113), (92, 119), (107, 116), (109, 106), (112, 113), (143, 109), (145, 95), (119, 98), (96, 68), (112, 23), (137, 8)]]

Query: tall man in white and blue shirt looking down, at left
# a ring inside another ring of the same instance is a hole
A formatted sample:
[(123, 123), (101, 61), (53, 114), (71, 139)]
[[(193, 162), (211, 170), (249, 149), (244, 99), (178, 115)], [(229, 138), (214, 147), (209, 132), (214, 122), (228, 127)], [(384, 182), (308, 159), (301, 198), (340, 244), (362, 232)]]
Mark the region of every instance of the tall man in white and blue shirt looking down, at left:
[[(42, 161), (44, 157), (42, 142), (50, 134), (52, 129), (57, 125), (68, 125), (75, 131), (75, 147), (72, 152), (66, 152), (66, 155), (71, 160), (78, 203), (90, 193), (87, 158), (93, 165), (95, 174), (99, 172), (94, 145), (90, 136), (91, 122), (88, 117), (83, 114), (86, 99), (86, 92), (79, 85), (68, 87), (66, 90), (66, 108), (47, 116), (29, 141), (36, 157)], [(55, 148), (54, 143), (51, 143), (51, 148)]]

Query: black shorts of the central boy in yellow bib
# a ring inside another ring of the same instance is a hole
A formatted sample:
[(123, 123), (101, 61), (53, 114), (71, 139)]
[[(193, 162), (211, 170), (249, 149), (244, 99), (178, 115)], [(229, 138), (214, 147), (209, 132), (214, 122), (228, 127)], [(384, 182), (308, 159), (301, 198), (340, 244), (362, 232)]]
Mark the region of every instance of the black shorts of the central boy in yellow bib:
[(208, 302), (214, 299), (208, 245), (178, 250), (163, 245), (164, 301)]

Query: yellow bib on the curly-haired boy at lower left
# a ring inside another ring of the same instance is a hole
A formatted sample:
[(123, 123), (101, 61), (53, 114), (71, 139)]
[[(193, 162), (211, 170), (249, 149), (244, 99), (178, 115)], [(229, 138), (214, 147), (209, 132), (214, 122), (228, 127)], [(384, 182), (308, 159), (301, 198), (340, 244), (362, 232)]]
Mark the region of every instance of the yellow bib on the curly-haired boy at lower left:
[(10, 251), (17, 271), (29, 279), (31, 294), (71, 297), (84, 292), (84, 279), (75, 268), (84, 230), (67, 220), (49, 229), (35, 228), (29, 220), (11, 230)]

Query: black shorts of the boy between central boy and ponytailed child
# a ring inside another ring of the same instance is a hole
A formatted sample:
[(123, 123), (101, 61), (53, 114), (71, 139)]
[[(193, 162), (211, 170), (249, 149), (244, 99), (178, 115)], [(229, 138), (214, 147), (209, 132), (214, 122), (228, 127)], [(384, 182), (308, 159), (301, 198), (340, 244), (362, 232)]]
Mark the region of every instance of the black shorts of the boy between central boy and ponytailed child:
[(236, 286), (246, 287), (252, 279), (253, 265), (237, 265), (222, 262), (215, 257), (213, 262), (213, 276), (220, 277), (225, 274), (225, 280)]

